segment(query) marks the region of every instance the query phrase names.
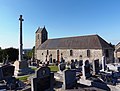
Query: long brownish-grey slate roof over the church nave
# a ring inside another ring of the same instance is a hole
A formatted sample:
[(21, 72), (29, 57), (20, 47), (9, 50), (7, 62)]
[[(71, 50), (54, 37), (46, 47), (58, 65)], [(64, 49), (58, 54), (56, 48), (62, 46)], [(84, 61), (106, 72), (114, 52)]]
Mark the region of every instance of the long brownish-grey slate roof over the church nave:
[(48, 39), (38, 49), (113, 49), (99, 35)]

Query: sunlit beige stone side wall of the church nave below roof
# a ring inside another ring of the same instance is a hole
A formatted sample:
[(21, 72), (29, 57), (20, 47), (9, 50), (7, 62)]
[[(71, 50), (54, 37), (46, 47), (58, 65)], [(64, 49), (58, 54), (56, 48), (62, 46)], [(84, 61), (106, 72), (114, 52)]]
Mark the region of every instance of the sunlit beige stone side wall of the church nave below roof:
[[(72, 50), (73, 55), (70, 55), (70, 50)], [(91, 62), (95, 59), (102, 59), (102, 50), (101, 49), (90, 49), (90, 56), (87, 57), (87, 49), (59, 49), (59, 55), (57, 50), (37, 50), (37, 59), (41, 61), (49, 60), (49, 56), (52, 54), (52, 59), (58, 60), (63, 59), (68, 62), (73, 60), (87, 60)]]

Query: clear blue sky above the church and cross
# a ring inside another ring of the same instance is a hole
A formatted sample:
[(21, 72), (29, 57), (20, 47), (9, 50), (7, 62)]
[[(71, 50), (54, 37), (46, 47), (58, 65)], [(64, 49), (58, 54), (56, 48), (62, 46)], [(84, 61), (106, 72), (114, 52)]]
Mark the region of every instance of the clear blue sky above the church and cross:
[(0, 47), (18, 48), (20, 14), (24, 48), (35, 45), (44, 25), (49, 38), (98, 34), (120, 42), (120, 0), (0, 0)]

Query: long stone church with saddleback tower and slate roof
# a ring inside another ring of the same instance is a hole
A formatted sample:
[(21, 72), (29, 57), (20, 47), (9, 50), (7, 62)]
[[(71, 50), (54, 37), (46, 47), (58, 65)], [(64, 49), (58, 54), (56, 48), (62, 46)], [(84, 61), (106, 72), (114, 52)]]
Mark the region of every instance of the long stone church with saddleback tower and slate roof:
[(71, 60), (102, 60), (106, 57), (107, 63), (113, 62), (114, 48), (99, 35), (74, 36), (48, 39), (45, 27), (38, 28), (35, 41), (35, 58), (40, 61), (65, 62)]

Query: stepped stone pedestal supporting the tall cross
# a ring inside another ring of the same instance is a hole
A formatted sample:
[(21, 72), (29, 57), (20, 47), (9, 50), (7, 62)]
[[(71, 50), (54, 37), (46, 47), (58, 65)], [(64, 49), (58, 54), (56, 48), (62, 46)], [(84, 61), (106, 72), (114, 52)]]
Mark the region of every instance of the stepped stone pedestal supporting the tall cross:
[(26, 75), (32, 72), (32, 69), (28, 67), (27, 61), (15, 61), (13, 65), (15, 66), (15, 76)]

